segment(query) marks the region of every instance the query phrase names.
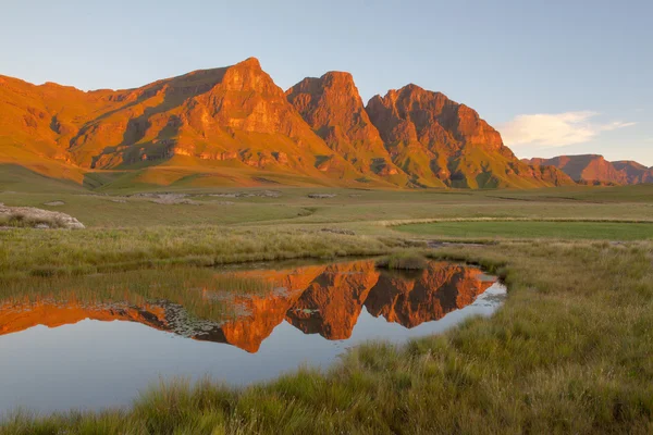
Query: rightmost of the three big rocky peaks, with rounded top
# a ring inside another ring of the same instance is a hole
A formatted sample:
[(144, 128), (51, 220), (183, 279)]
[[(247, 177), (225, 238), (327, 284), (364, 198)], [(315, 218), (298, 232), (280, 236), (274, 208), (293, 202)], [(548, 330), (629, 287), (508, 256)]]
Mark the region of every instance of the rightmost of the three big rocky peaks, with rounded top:
[(367, 112), (393, 162), (416, 185), (539, 187), (572, 184), (520, 162), (479, 114), (441, 92), (408, 85), (373, 97)]

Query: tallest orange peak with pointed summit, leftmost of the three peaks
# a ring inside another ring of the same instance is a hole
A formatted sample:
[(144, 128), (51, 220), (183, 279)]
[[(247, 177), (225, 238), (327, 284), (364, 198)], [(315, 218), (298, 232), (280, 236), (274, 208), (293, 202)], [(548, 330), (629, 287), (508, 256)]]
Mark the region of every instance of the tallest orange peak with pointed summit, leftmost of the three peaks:
[(317, 178), (321, 172), (359, 176), (306, 125), (256, 59), (175, 77), (141, 94), (137, 107), (110, 115), (121, 126), (122, 137), (110, 139), (115, 146), (103, 146), (106, 119), (75, 137), (72, 149), (84, 150), (81, 163), (88, 164), (91, 150), (91, 167), (102, 169), (185, 156)]

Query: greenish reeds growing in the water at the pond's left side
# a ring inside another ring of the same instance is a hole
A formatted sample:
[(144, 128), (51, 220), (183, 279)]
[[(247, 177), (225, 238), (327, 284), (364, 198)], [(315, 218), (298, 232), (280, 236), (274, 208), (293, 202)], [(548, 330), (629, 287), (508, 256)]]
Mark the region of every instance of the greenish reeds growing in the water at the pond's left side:
[[(0, 288), (0, 307), (17, 310), (52, 301), (75, 302), (79, 307), (144, 307), (148, 303), (176, 303), (194, 319), (223, 322), (236, 313), (230, 298), (263, 295), (274, 283), (217, 273), (206, 268), (170, 268), (88, 276), (11, 279)], [(218, 297), (207, 297), (217, 295)]]

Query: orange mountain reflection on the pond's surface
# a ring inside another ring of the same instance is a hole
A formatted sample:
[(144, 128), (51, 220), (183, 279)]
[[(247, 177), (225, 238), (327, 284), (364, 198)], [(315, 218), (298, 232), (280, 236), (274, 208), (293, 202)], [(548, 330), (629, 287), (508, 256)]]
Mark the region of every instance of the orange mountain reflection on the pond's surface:
[[(229, 298), (227, 303), (238, 307), (239, 314), (222, 324), (192, 320), (183, 307), (167, 301), (134, 307), (44, 299), (0, 303), (0, 335), (85, 319), (128, 321), (256, 352), (284, 320), (305, 334), (346, 339), (365, 307), (373, 316), (410, 328), (472, 303), (493, 284), (478, 269), (438, 262), (411, 274), (379, 271), (373, 261), (366, 260), (236, 275), (272, 283), (274, 289), (261, 296)], [(211, 303), (210, 293), (202, 293), (202, 297)]]

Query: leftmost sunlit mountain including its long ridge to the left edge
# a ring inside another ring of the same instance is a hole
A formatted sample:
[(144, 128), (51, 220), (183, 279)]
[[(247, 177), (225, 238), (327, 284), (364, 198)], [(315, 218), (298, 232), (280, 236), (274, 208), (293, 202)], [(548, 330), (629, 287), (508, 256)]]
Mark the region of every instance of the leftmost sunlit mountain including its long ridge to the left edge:
[[(7, 107), (13, 101), (23, 107), (5, 119), (0, 135), (29, 144), (37, 158), (88, 170), (181, 165), (202, 172), (201, 166), (218, 165), (300, 175), (318, 184), (361, 176), (306, 125), (256, 59), (132, 90), (60, 87), (59, 103), (41, 89), (52, 85), (21, 85), (4, 87), (9, 96), (0, 111), (11, 113)], [(21, 126), (21, 119), (26, 128), (16, 132), (12, 125)]]

